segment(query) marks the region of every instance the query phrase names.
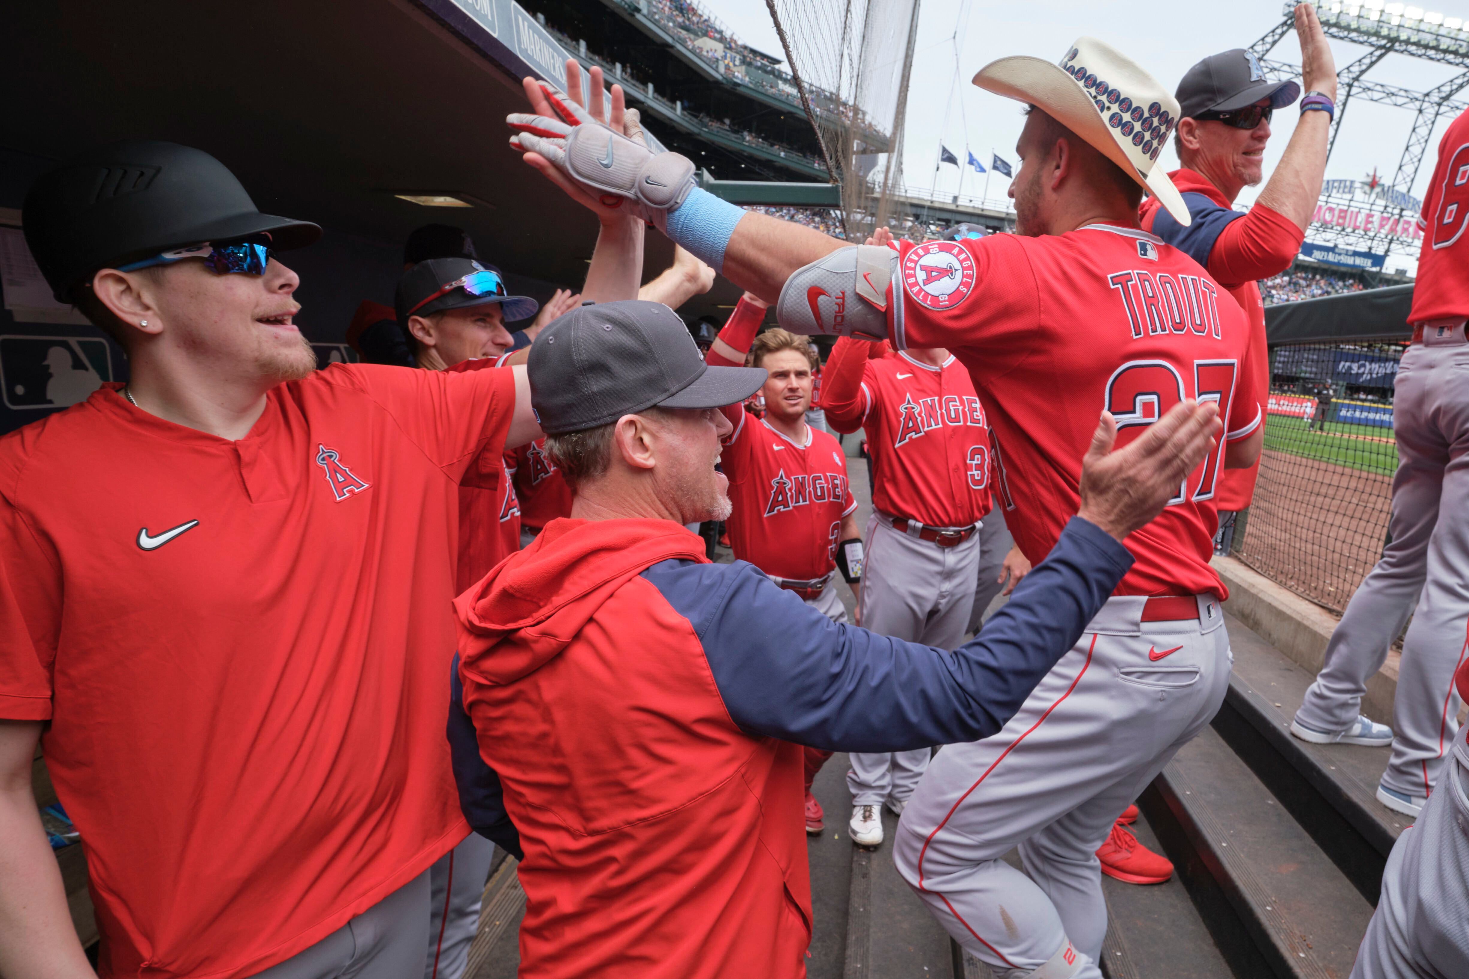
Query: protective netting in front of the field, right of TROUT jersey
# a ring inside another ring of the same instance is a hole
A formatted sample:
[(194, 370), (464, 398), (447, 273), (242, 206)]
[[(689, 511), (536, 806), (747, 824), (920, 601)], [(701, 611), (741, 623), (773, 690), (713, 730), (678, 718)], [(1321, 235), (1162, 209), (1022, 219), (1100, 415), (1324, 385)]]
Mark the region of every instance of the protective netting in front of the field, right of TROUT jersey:
[(1382, 556), (1397, 471), (1393, 380), (1401, 343), (1271, 349), (1255, 501), (1234, 556), (1335, 612)]

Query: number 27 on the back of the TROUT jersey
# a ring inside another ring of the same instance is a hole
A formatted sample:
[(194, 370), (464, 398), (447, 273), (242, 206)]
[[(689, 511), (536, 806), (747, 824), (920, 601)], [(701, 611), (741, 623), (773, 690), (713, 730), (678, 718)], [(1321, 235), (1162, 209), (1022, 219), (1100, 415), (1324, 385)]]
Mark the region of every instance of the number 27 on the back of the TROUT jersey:
[[(1140, 432), (1127, 436), (1127, 429), (1150, 426), (1174, 405), (1184, 399), (1212, 401), (1219, 405), (1219, 421), (1230, 430), (1230, 405), (1234, 399), (1234, 379), (1238, 376), (1238, 361), (1196, 360), (1191, 374), (1180, 371), (1163, 360), (1136, 360), (1118, 367), (1106, 382), (1106, 410), (1116, 418), (1118, 446), (1125, 445)], [(1168, 501), (1169, 506), (1188, 501), (1213, 499), (1213, 484), (1224, 464), (1224, 437), (1205, 458), (1203, 464), (1180, 484), (1178, 495)], [(1193, 493), (1188, 486), (1193, 484)]]

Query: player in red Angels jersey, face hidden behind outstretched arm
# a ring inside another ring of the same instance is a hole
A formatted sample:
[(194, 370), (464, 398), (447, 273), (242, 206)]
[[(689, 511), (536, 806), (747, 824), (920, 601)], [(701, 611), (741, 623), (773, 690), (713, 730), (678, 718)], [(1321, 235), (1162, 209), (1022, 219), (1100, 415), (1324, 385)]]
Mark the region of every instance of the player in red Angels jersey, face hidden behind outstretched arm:
[[(837, 341), (823, 401), (836, 432), (867, 430), (871, 455), (861, 621), (884, 636), (953, 649), (964, 641), (974, 606), (978, 520), (990, 509), (984, 408), (970, 373), (949, 351), (887, 357), (881, 351), (865, 341)], [(881, 807), (902, 815), (928, 754), (849, 756), (852, 842), (883, 841)]]

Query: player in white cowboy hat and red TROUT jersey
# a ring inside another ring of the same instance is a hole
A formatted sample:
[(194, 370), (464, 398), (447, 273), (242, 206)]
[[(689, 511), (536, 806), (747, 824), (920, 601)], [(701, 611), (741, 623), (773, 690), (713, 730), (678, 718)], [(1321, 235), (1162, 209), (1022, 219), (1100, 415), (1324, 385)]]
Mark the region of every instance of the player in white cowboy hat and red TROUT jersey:
[[(692, 161), (607, 128), (510, 122), (552, 181), (620, 195), (726, 277), (779, 294), (786, 329), (953, 351), (993, 424), (999, 492), (1009, 478), (1024, 487), (1011, 492), (1009, 527), (1031, 559), (1075, 512), (1099, 411), (1136, 437), (1175, 404), (1219, 407), (1224, 440), (1131, 539), (1136, 564), (1081, 643), (999, 735), (939, 753), (893, 847), (949, 933), (996, 975), (1099, 979), (1096, 850), (1228, 684), (1213, 492), (1222, 467), (1259, 456), (1265, 392), (1238, 304), (1137, 228), (1140, 185), (1190, 220), (1155, 166), (1178, 120), (1172, 95), (1093, 38), (1059, 66), (1003, 59), (975, 82), (1036, 106), (1011, 185), (1018, 235), (900, 252), (746, 213), (695, 186)], [(1015, 844), (1030, 876), (1000, 859)]]

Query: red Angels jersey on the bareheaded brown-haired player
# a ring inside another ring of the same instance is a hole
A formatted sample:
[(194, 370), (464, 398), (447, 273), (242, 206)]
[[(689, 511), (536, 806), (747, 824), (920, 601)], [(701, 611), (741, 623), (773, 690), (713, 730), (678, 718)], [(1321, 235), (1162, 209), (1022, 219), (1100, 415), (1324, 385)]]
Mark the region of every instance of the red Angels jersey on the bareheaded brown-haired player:
[(730, 481), (734, 556), (777, 578), (809, 581), (836, 568), (842, 518), (856, 509), (846, 456), (826, 432), (806, 426), (806, 445), (740, 411), (720, 454)]

